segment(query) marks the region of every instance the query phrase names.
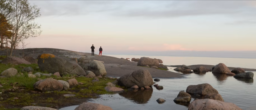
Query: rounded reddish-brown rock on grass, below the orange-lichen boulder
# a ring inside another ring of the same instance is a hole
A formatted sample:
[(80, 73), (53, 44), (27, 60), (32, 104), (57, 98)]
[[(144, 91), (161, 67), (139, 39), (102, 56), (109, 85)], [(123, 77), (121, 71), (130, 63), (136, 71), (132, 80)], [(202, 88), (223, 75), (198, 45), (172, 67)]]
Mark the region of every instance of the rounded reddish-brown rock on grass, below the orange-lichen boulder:
[(36, 83), (33, 84), (34, 89), (39, 89), (43, 92), (46, 91), (61, 91), (63, 88), (62, 83), (58, 82), (55, 79), (44, 79), (44, 80), (39, 80)]

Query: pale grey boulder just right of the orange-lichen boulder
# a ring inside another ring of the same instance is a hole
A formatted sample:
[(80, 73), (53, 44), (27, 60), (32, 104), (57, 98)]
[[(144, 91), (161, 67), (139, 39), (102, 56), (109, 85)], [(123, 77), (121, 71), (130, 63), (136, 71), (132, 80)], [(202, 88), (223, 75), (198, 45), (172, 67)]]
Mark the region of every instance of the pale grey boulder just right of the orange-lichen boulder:
[(92, 71), (96, 76), (106, 76), (107, 72), (103, 63), (98, 61), (91, 61), (84, 66), (85, 71)]

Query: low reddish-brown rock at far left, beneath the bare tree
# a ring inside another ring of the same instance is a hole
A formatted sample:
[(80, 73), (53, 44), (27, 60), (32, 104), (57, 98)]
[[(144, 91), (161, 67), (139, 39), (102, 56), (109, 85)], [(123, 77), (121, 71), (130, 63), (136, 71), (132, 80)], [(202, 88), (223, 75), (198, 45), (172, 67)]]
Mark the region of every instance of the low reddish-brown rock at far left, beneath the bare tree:
[(28, 61), (26, 61), (24, 58), (19, 58), (19, 57), (6, 57), (3, 61), (2, 64), (31, 64)]

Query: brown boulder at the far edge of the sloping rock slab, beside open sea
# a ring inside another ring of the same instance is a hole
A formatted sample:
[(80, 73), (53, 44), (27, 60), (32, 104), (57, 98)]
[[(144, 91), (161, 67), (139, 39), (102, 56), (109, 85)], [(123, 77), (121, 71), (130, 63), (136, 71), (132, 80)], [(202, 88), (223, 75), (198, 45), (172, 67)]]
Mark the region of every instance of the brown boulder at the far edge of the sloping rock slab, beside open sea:
[(150, 67), (153, 67), (153, 66), (158, 67), (159, 61), (157, 59), (142, 57), (142, 58), (140, 58), (140, 60), (138, 61), (138, 64), (137, 64), (137, 66), (143, 66), (143, 67), (147, 66), (147, 65)]

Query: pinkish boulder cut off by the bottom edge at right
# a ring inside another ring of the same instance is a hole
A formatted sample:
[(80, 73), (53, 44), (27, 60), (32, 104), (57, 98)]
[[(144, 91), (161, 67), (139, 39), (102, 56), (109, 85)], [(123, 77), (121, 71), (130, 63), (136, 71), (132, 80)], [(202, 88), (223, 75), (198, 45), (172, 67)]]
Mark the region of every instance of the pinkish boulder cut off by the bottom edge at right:
[(198, 99), (189, 104), (188, 110), (242, 110), (233, 103), (213, 99)]

